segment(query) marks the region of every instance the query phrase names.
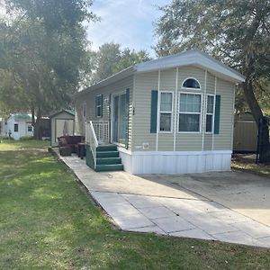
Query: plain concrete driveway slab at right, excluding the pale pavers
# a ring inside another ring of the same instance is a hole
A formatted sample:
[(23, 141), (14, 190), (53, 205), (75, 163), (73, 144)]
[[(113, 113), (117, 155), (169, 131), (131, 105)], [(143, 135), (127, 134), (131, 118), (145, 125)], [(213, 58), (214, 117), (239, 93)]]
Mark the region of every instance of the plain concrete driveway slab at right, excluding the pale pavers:
[[(198, 193), (270, 226), (270, 179), (238, 171), (193, 175), (147, 175), (176, 189)], [(160, 181), (160, 180), (159, 180)]]

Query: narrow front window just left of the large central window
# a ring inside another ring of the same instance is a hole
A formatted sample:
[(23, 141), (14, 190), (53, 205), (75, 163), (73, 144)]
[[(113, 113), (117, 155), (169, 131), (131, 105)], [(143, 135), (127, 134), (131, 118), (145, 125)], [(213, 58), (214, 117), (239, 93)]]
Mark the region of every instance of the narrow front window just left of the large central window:
[(172, 111), (173, 111), (173, 93), (160, 93), (159, 107), (159, 130), (171, 132), (172, 130)]

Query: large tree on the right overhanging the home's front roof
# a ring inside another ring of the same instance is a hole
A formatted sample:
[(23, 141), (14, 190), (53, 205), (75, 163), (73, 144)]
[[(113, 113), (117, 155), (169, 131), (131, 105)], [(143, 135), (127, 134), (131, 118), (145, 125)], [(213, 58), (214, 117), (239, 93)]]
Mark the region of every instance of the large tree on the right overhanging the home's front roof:
[(174, 0), (160, 10), (157, 55), (202, 49), (237, 68), (246, 76), (241, 88), (258, 125), (257, 97), (270, 81), (270, 1)]

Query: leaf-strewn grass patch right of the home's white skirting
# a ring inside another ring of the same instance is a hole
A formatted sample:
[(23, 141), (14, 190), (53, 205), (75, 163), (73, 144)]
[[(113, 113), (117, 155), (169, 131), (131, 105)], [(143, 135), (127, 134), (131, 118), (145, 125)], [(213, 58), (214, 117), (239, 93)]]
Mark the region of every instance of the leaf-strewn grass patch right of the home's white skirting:
[(256, 164), (256, 155), (234, 155), (231, 160), (231, 167), (236, 170), (270, 178), (269, 164)]

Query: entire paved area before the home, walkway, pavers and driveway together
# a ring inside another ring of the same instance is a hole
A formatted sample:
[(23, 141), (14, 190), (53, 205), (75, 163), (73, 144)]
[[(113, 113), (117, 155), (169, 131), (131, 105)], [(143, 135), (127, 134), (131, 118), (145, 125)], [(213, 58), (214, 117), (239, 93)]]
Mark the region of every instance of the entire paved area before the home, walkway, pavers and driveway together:
[(266, 178), (95, 173), (78, 157), (61, 158), (121, 229), (270, 247)]

